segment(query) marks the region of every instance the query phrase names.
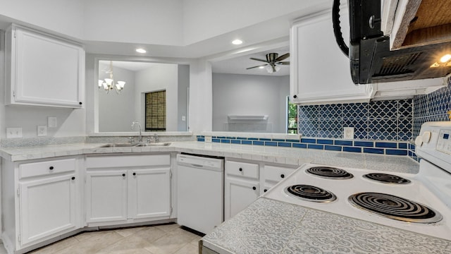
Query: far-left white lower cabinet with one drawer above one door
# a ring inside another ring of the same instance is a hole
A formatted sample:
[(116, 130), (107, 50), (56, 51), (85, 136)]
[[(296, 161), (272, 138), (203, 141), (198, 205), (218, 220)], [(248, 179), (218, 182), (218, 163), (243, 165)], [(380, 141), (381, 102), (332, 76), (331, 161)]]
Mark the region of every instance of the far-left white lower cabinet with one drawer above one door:
[(8, 252), (82, 227), (79, 165), (79, 157), (2, 159), (2, 240)]

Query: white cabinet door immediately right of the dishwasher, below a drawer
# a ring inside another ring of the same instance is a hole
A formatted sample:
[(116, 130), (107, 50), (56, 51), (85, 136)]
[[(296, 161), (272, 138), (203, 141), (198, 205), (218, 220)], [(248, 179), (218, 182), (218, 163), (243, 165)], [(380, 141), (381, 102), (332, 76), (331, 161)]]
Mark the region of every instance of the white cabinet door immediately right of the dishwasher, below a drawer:
[(224, 218), (229, 219), (259, 198), (259, 183), (226, 178)]

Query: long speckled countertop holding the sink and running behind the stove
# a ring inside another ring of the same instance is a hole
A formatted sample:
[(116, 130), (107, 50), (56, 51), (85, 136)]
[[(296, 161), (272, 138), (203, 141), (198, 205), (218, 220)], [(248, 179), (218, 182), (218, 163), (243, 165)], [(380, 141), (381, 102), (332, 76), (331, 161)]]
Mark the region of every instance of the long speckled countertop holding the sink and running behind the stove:
[(43, 147), (1, 148), (0, 156), (13, 162), (70, 155), (91, 155), (140, 152), (186, 152), (234, 159), (299, 166), (304, 163), (326, 164), (359, 169), (377, 169), (403, 173), (418, 173), (419, 164), (407, 156), (371, 155), (353, 152), (333, 152), (302, 148), (265, 147), (204, 142), (173, 142), (163, 147), (100, 147), (100, 143), (48, 145)]

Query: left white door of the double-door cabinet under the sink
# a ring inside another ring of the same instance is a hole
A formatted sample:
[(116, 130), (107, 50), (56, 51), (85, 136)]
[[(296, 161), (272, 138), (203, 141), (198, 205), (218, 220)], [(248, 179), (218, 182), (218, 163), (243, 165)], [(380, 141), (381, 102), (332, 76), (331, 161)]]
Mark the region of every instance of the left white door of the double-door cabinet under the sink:
[(87, 222), (127, 220), (127, 171), (87, 171)]

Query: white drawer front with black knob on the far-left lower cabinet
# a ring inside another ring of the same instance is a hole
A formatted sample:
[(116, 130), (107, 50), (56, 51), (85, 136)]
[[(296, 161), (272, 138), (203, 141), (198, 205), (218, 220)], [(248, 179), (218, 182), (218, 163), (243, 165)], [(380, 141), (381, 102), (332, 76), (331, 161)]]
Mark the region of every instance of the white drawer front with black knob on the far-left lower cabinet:
[(45, 174), (56, 174), (68, 171), (75, 171), (77, 168), (77, 160), (58, 159), (46, 162), (32, 162), (19, 165), (20, 179), (30, 176), (42, 176)]

